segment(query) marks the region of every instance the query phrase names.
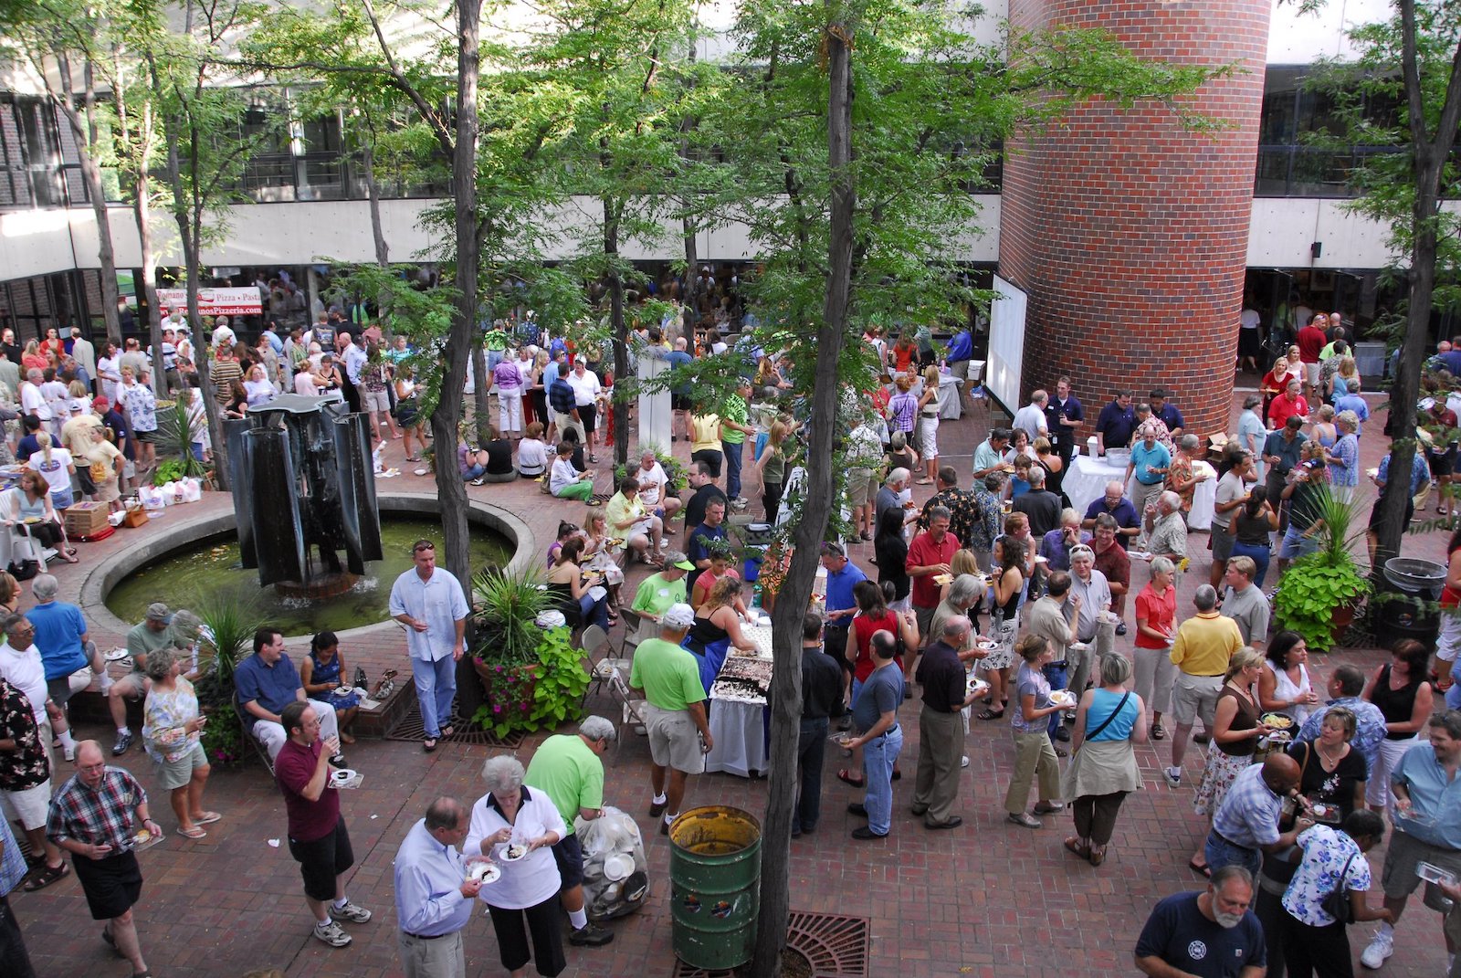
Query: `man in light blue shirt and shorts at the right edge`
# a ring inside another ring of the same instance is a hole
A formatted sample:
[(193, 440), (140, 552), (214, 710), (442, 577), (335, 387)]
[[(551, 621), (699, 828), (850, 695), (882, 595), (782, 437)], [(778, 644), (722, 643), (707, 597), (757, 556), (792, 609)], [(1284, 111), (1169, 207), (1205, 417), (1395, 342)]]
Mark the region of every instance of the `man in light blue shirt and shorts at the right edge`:
[[(1461, 773), (1461, 710), (1432, 716), (1427, 728), (1430, 743), (1407, 750), (1389, 775), (1389, 788), (1395, 792), (1395, 832), (1389, 836), (1381, 883), (1385, 909), (1397, 924), (1405, 901), (1420, 886), (1420, 863), (1461, 879), (1461, 778), (1457, 776)], [(1436, 884), (1426, 883), (1426, 906), (1446, 914), (1449, 908), (1442, 899)], [(1360, 963), (1379, 968), (1394, 950), (1395, 928), (1381, 924), (1360, 955)]]

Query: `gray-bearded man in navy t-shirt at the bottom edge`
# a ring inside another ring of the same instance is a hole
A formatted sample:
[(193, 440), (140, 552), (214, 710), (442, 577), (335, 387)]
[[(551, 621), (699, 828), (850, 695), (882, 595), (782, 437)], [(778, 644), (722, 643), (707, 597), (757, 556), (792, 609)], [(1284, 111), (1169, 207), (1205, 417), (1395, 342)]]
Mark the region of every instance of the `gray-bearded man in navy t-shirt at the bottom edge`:
[(1264, 928), (1248, 909), (1254, 877), (1239, 865), (1213, 873), (1204, 893), (1160, 901), (1137, 939), (1137, 968), (1166, 975), (1175, 968), (1198, 978), (1259, 978), (1268, 966)]

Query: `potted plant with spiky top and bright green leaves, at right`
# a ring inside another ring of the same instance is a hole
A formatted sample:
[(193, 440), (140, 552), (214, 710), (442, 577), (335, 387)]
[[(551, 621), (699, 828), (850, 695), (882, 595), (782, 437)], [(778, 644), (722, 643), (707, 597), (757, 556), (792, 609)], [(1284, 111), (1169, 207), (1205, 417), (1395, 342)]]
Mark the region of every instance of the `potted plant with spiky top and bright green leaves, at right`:
[(1311, 652), (1328, 652), (1354, 621), (1354, 610), (1369, 594), (1370, 582), (1350, 551), (1363, 534), (1354, 529), (1359, 506), (1318, 488), (1319, 550), (1293, 561), (1274, 591), (1277, 627), (1303, 636)]

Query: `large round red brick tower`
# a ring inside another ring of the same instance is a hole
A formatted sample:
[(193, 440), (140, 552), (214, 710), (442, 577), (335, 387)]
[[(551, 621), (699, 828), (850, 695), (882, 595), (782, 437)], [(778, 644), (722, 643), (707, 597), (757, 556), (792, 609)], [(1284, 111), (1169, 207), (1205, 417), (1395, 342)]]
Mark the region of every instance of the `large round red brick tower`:
[(1242, 69), (1186, 99), (1229, 120), (1214, 134), (1096, 98), (1008, 145), (999, 275), (1029, 294), (1021, 396), (1069, 374), (1083, 437), (1115, 387), (1172, 387), (1189, 431), (1227, 427), (1268, 15), (1270, 0), (1010, 0), (1017, 28), (1105, 28), (1144, 58)]

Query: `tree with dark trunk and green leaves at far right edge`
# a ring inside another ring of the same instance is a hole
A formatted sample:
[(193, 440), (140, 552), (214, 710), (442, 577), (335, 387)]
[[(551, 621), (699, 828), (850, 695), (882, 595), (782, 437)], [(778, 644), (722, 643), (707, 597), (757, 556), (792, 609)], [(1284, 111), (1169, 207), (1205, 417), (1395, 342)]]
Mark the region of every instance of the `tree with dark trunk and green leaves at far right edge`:
[[(1303, 0), (1315, 10), (1324, 0)], [(1395, 254), (1389, 278), (1404, 284), (1397, 326), (1400, 363), (1391, 382), (1389, 481), (1381, 499), (1376, 566), (1400, 554), (1405, 534), (1410, 466), (1417, 450), (1416, 403), (1430, 341), (1430, 316), (1461, 307), (1461, 221), (1442, 209), (1454, 199), (1458, 171), (1451, 158), (1461, 124), (1461, 6), (1452, 0), (1394, 0), (1391, 16), (1351, 28), (1359, 56), (1327, 61), (1316, 85), (1340, 105), (1343, 139), (1351, 145), (1394, 146), (1362, 156), (1350, 173), (1360, 197), (1350, 209), (1389, 228)], [(1366, 107), (1395, 105), (1394, 117)], [(1442, 273), (1438, 276), (1438, 266)]]

